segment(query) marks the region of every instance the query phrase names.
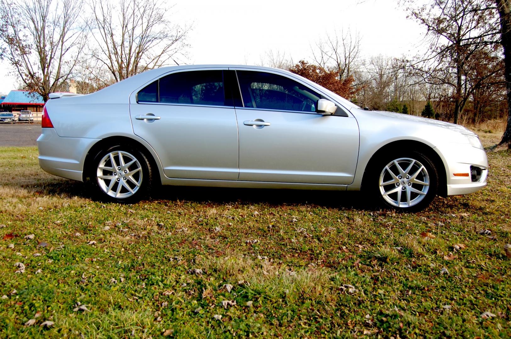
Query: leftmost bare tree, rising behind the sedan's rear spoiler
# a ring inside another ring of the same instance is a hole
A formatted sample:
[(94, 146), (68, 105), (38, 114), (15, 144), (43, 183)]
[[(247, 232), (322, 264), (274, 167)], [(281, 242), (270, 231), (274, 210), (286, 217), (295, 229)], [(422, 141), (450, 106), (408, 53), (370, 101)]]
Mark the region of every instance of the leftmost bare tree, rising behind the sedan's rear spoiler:
[(0, 0), (2, 56), (44, 101), (73, 72), (85, 43), (78, 0)]

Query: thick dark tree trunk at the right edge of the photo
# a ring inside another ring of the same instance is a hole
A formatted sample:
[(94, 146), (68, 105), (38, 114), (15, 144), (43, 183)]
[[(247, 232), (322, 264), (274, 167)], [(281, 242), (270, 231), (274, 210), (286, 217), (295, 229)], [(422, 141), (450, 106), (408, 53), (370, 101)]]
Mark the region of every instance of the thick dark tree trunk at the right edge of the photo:
[(504, 71), (507, 93), (507, 125), (500, 144), (511, 147), (511, 1), (496, 0), (500, 16), (501, 44), (504, 49)]

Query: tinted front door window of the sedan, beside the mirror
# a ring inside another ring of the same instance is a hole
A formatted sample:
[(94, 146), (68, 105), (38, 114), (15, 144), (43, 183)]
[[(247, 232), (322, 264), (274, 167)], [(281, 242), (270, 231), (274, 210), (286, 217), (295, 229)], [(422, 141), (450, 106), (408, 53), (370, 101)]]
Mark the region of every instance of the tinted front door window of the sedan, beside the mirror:
[(321, 98), (316, 92), (285, 76), (237, 71), (245, 107), (315, 112)]

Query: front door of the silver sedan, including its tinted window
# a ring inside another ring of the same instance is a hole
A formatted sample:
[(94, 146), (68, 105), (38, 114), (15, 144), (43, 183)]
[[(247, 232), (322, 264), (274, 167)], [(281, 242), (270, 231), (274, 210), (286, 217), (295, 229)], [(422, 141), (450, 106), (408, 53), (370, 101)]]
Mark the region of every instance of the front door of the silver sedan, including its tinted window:
[[(316, 113), (315, 90), (271, 71), (237, 70), (239, 180), (349, 185), (357, 167), (355, 118)], [(340, 107), (337, 110), (341, 110)]]

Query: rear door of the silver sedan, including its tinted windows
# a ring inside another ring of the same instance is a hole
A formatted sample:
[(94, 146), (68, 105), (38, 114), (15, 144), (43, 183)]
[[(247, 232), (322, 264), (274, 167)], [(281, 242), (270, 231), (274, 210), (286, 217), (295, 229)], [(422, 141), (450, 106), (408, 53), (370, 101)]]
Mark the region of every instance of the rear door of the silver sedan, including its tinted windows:
[(173, 72), (130, 103), (133, 132), (154, 148), (167, 177), (237, 180), (238, 127), (224, 72)]

